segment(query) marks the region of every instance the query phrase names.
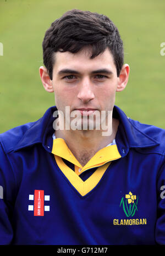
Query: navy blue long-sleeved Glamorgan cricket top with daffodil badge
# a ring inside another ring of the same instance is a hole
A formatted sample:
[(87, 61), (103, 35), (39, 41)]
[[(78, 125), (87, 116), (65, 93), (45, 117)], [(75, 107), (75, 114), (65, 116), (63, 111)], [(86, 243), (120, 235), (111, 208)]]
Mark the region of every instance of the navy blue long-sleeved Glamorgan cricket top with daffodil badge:
[(52, 152), (55, 110), (0, 135), (0, 243), (165, 244), (165, 131), (114, 106), (119, 157), (80, 182)]

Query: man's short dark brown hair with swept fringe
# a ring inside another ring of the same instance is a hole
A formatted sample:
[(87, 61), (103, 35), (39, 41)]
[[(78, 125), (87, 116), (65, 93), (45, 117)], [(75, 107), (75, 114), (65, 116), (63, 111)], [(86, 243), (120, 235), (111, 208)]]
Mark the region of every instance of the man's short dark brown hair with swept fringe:
[(54, 52), (76, 53), (85, 46), (92, 47), (90, 58), (95, 58), (108, 47), (119, 77), (124, 63), (124, 53), (123, 41), (117, 27), (106, 15), (73, 9), (51, 24), (42, 42), (43, 64), (51, 80)]

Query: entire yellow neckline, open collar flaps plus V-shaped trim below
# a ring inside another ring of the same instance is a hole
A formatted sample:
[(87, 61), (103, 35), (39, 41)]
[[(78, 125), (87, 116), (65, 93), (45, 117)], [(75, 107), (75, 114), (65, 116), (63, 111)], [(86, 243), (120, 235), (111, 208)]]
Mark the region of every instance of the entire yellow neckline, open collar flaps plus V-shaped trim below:
[[(82, 196), (86, 195), (96, 187), (103, 174), (106, 172), (108, 166), (111, 164), (111, 161), (122, 157), (119, 154), (117, 145), (106, 146), (105, 148), (97, 151), (90, 161), (87, 162), (87, 164), (83, 167), (69, 150), (65, 141), (61, 138), (53, 140), (52, 154), (54, 154), (54, 158), (59, 169)], [(75, 172), (64, 163), (62, 158), (72, 162), (72, 164), (75, 165)], [(95, 167), (97, 167), (96, 171), (92, 173), (92, 175), (87, 178), (86, 181), (83, 181), (79, 177), (82, 172)], [(79, 169), (81, 169), (80, 172)]]

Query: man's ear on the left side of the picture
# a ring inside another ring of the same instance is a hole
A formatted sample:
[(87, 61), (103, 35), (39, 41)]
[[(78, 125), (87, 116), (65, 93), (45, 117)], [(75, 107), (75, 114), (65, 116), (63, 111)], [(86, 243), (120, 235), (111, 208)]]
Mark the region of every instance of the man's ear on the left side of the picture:
[(40, 72), (40, 78), (45, 90), (48, 92), (53, 92), (54, 90), (53, 90), (52, 80), (48, 75), (47, 69), (45, 67), (40, 67), (39, 72)]

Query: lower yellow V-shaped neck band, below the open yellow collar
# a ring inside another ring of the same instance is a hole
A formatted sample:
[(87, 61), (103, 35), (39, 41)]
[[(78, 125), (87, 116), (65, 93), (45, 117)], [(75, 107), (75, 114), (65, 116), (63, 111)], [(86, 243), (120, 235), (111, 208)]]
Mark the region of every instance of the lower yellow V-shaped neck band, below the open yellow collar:
[(72, 186), (82, 195), (86, 195), (89, 193), (93, 188), (96, 187), (100, 179), (102, 178), (103, 174), (107, 170), (108, 166), (111, 162), (97, 168), (97, 170), (92, 173), (92, 175), (83, 181), (76, 173), (70, 169), (61, 159), (61, 157), (54, 155), (58, 167), (61, 169), (65, 177), (69, 180)]

